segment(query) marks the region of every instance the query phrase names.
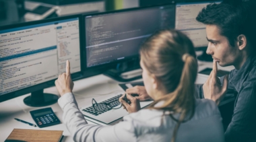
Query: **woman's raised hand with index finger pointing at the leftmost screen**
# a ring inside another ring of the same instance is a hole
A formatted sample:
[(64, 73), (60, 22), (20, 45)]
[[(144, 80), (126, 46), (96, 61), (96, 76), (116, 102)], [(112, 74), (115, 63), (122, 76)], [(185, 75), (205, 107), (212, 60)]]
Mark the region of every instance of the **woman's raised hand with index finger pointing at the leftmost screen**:
[(61, 96), (63, 96), (66, 93), (72, 92), (74, 83), (70, 75), (69, 61), (67, 61), (66, 63), (66, 73), (62, 73), (61, 75), (59, 75), (59, 78), (55, 80), (55, 85)]

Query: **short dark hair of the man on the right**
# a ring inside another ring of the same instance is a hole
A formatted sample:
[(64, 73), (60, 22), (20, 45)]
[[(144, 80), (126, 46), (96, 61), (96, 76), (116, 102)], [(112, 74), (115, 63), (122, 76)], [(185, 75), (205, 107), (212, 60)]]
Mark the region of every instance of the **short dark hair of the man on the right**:
[(255, 46), (253, 42), (256, 34), (255, 9), (255, 0), (212, 3), (199, 12), (196, 20), (203, 24), (218, 26), (220, 35), (226, 36), (231, 46), (234, 46), (234, 42), (241, 34), (246, 36), (247, 42)]

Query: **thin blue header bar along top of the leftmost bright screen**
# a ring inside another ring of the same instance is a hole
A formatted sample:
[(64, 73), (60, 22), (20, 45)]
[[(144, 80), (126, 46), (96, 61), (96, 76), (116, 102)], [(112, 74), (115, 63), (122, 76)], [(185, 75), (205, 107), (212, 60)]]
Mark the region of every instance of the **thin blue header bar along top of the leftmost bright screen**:
[(71, 19), (68, 19), (68, 20), (58, 20), (58, 21), (55, 21), (55, 22), (46, 22), (46, 23), (43, 23), (43, 24), (36, 24), (36, 25), (31, 25), (31, 26), (11, 28), (11, 29), (7, 29), (7, 30), (0, 30), (0, 34), (4, 34), (6, 32), (15, 32), (15, 31), (18, 31), (18, 30), (26, 30), (26, 29), (36, 28), (36, 27), (41, 27), (41, 26), (59, 24), (59, 23), (64, 23), (64, 22), (71, 22), (71, 21), (75, 21), (75, 20), (78, 20), (78, 17), (71, 18)]

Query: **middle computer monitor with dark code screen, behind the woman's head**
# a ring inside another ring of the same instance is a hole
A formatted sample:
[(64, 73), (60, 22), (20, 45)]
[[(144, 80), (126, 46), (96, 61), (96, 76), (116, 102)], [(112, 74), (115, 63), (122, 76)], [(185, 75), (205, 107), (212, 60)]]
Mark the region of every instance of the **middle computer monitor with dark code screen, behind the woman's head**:
[(139, 46), (146, 38), (156, 30), (174, 28), (174, 12), (175, 5), (161, 5), (84, 15), (86, 68), (138, 58)]

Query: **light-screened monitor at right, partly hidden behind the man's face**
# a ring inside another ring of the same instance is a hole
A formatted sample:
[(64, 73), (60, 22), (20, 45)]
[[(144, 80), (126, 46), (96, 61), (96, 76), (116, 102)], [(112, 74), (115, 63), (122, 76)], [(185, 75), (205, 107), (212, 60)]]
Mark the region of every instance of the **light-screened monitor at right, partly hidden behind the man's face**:
[[(175, 29), (187, 34), (192, 40), (195, 50), (206, 50), (208, 41), (206, 38), (205, 25), (197, 22), (199, 11), (210, 3), (219, 3), (220, 1), (197, 1), (190, 3), (177, 3), (175, 16)], [(205, 52), (204, 52), (205, 53)], [(200, 58), (199, 58), (200, 59)], [(202, 58), (201, 60), (207, 60)], [(210, 57), (212, 61), (212, 57)]]

